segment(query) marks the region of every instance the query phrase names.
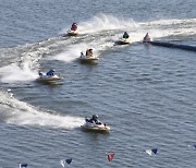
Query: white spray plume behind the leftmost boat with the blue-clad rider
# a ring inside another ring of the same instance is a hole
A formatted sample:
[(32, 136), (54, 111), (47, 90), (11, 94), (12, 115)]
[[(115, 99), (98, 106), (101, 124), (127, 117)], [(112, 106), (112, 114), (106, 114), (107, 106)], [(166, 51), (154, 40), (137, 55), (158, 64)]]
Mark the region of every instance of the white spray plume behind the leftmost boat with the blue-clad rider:
[[(29, 47), (29, 46), (28, 46)], [(24, 50), (28, 49), (28, 47), (24, 46)], [(19, 50), (21, 47), (19, 48)], [(22, 53), (17, 53), (15, 57), (19, 59), (15, 63), (11, 63), (9, 65), (0, 68), (0, 81), (3, 83), (17, 83), (22, 81), (34, 81), (38, 77), (37, 71), (39, 68), (38, 61), (40, 60), (42, 52), (45, 49), (35, 49), (32, 46), (32, 50), (23, 51)]]

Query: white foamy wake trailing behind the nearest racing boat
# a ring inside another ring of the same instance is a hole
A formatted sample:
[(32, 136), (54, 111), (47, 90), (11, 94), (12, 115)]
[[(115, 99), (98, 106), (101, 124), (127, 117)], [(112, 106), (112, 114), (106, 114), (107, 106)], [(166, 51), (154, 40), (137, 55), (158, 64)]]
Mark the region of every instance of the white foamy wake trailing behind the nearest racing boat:
[(4, 122), (9, 124), (74, 129), (84, 122), (84, 119), (78, 117), (38, 110), (27, 103), (17, 100), (9, 92), (0, 91), (0, 97), (1, 118), (4, 117)]

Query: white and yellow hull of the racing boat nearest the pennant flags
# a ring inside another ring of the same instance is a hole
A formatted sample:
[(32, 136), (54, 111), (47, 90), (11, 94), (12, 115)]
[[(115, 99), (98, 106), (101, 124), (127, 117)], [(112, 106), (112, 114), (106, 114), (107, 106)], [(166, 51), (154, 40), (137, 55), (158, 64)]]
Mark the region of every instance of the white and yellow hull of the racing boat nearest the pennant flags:
[(106, 125), (100, 121), (91, 122), (90, 119), (86, 118), (85, 123), (81, 125), (81, 128), (85, 131), (94, 131), (94, 132), (109, 132), (110, 127)]

